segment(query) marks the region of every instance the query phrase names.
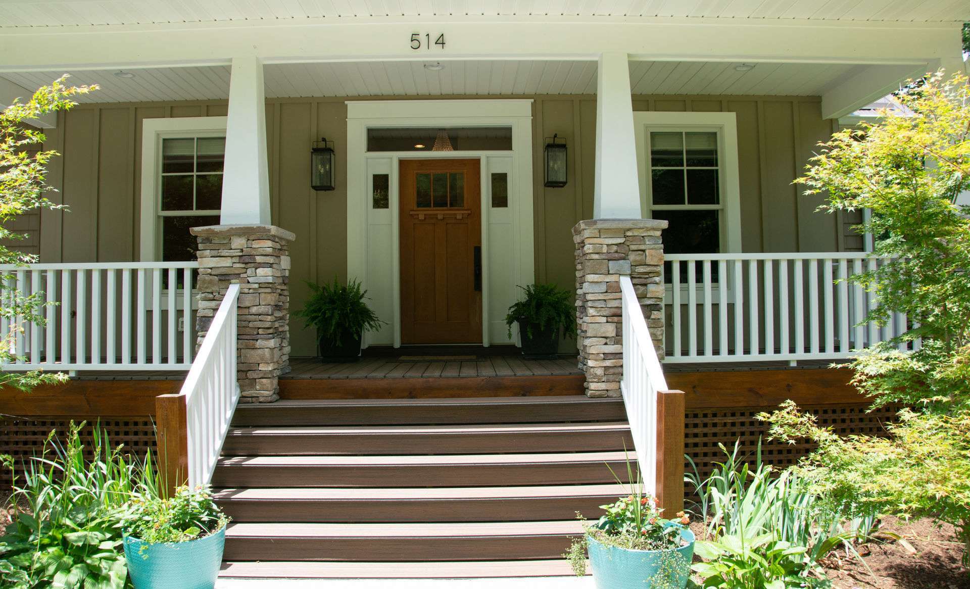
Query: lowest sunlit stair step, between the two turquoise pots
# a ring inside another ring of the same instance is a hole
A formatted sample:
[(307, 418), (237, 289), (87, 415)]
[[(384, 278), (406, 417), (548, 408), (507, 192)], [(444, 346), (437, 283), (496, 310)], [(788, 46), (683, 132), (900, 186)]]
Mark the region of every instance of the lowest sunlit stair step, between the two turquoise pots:
[(471, 562), (225, 562), (220, 578), (501, 578), (566, 576), (572, 569), (563, 558), (554, 560)]

